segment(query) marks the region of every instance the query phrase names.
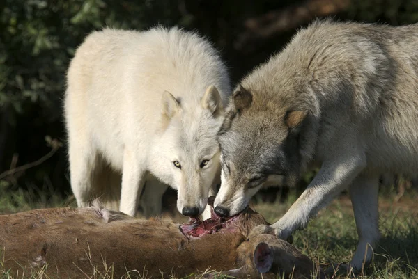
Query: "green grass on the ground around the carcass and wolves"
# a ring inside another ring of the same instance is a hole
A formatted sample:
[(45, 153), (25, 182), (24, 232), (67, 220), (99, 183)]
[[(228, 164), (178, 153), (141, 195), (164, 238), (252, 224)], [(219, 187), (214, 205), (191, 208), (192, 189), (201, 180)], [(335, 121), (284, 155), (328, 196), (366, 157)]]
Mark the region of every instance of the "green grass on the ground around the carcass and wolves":
[[(25, 191), (6, 192), (0, 184), (0, 214), (32, 208), (75, 205), (72, 198), (63, 200), (59, 196), (52, 195), (49, 199), (42, 200), (38, 197), (34, 200), (36, 197), (38, 195)], [(286, 212), (295, 198), (293, 194), (284, 203), (254, 202), (252, 207), (263, 214), (270, 223), (274, 223)], [(375, 249), (373, 264), (366, 270), (365, 275), (357, 278), (418, 278), (418, 192), (408, 191), (398, 202), (394, 202), (393, 194), (382, 193), (379, 201), (382, 241)], [(331, 263), (349, 262), (357, 245), (357, 231), (348, 197), (343, 195), (338, 200), (334, 200), (309, 223), (307, 229), (295, 232), (293, 238), (293, 245), (323, 268), (327, 268)], [(138, 277), (146, 276), (141, 276), (141, 272), (127, 276), (127, 278)], [(336, 278), (347, 277), (340, 275)], [(0, 260), (0, 279), (6, 278), (14, 277), (1, 271)], [(47, 278), (47, 276), (41, 272), (33, 273), (31, 278)], [(93, 278), (112, 278), (112, 276), (95, 274)], [(187, 278), (199, 278), (199, 276)]]

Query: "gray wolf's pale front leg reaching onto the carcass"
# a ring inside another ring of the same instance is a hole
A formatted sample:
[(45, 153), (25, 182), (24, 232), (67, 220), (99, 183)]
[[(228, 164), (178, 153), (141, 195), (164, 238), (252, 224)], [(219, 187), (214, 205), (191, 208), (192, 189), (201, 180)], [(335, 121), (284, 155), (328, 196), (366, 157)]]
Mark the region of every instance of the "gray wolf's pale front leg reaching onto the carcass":
[(336, 154), (334, 159), (325, 161), (300, 198), (270, 230), (274, 229), (277, 237), (287, 239), (295, 230), (304, 228), (309, 218), (341, 193), (365, 166), (364, 153), (356, 150)]

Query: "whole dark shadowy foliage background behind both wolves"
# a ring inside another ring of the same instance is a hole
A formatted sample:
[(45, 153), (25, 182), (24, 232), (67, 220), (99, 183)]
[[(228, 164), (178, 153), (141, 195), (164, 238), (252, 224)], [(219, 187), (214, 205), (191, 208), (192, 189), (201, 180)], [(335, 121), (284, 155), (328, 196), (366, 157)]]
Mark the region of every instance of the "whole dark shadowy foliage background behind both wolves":
[[(0, 172), (10, 168), (13, 154), (18, 154), (17, 166), (46, 154), (49, 151), (44, 141), (46, 135), (65, 141), (61, 104), (65, 72), (75, 49), (91, 31), (103, 26), (147, 29), (155, 24), (197, 29), (221, 49), (231, 67), (233, 81), (238, 81), (281, 49), (295, 33), (291, 27), (237, 47), (238, 38), (247, 31), (246, 20), (304, 3), (301, 0), (0, 1)], [(350, 3), (346, 10), (330, 15), (394, 25), (418, 21), (415, 0)], [(300, 21), (301, 25), (307, 23)], [(9, 184), (15, 188), (48, 184), (68, 191), (65, 177), (68, 163), (65, 149), (61, 149), (41, 166), (18, 173), (13, 179), (8, 177)]]

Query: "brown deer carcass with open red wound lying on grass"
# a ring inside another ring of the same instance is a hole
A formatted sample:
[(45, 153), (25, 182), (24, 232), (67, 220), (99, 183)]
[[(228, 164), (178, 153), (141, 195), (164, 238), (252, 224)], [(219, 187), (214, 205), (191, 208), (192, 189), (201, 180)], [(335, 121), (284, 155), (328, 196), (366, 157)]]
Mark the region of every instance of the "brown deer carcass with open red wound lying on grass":
[[(238, 278), (292, 278), (323, 272), (299, 250), (270, 234), (247, 241), (267, 224), (248, 209), (233, 218), (144, 220), (100, 207), (37, 209), (0, 216), (2, 268), (9, 274), (47, 273), (55, 278), (109, 274), (117, 278), (184, 278), (206, 269)], [(140, 240), (140, 241), (138, 241)], [(25, 245), (22, 246), (22, 243)], [(144, 275), (143, 275), (144, 274)], [(141, 276), (143, 275), (143, 276)], [(206, 277), (214, 277), (208, 273)]]

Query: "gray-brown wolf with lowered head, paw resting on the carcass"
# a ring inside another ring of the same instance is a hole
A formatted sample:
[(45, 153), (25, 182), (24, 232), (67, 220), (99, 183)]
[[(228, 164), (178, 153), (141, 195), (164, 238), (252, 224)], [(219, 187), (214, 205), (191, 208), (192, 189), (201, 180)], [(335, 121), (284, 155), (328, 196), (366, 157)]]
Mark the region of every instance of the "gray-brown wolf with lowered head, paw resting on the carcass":
[(319, 173), (270, 228), (281, 238), (348, 187), (359, 244), (357, 269), (373, 255), (381, 173), (418, 170), (418, 24), (316, 21), (240, 83), (219, 142), (218, 214), (236, 214), (265, 182)]

